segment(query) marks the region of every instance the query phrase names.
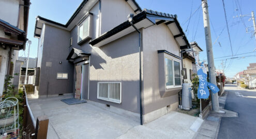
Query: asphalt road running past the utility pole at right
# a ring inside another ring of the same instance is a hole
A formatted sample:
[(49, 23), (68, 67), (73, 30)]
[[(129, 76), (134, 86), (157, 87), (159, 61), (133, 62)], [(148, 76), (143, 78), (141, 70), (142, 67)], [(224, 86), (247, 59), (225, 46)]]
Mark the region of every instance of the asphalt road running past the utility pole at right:
[(224, 109), (238, 113), (238, 117), (222, 117), (218, 138), (256, 138), (256, 90), (243, 90), (225, 85), (228, 97)]

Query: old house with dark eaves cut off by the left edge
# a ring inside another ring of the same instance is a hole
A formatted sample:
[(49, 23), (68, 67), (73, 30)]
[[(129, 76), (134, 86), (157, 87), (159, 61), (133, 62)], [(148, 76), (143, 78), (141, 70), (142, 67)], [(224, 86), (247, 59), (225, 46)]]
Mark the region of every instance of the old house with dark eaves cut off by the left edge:
[(13, 76), (19, 50), (25, 49), (29, 5), (29, 0), (0, 1), (0, 96), (6, 75)]

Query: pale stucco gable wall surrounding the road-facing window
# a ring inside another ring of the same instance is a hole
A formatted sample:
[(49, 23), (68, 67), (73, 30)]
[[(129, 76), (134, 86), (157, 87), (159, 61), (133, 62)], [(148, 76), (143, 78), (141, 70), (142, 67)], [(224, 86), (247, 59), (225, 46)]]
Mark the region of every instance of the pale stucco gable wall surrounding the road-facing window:
[[(173, 34), (165, 24), (143, 29), (143, 113), (172, 105), (178, 105), (178, 95), (161, 97), (159, 91), (159, 63), (157, 50), (167, 50), (180, 56)], [(180, 69), (182, 66), (181, 60)], [(164, 67), (162, 67), (164, 68)], [(162, 80), (165, 80), (164, 78)]]

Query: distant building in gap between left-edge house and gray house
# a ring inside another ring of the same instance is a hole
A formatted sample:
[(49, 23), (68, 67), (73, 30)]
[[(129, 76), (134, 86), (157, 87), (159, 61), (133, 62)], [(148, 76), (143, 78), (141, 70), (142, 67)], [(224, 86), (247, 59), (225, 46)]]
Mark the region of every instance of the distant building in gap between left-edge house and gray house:
[(25, 76), (26, 76), (27, 58), (19, 57), (19, 60), (24, 61), (24, 64), (21, 66), (20, 84), (34, 84), (37, 58), (29, 58), (29, 60), (28, 60), (27, 82), (26, 83), (25, 83)]

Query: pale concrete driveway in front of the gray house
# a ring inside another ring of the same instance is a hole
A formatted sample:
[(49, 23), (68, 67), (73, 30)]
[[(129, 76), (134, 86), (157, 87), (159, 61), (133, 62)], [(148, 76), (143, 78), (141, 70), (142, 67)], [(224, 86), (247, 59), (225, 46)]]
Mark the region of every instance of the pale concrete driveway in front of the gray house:
[(49, 117), (48, 138), (192, 138), (201, 119), (170, 112), (143, 126), (88, 101), (67, 105), (60, 101), (71, 96), (29, 99), (36, 118)]

